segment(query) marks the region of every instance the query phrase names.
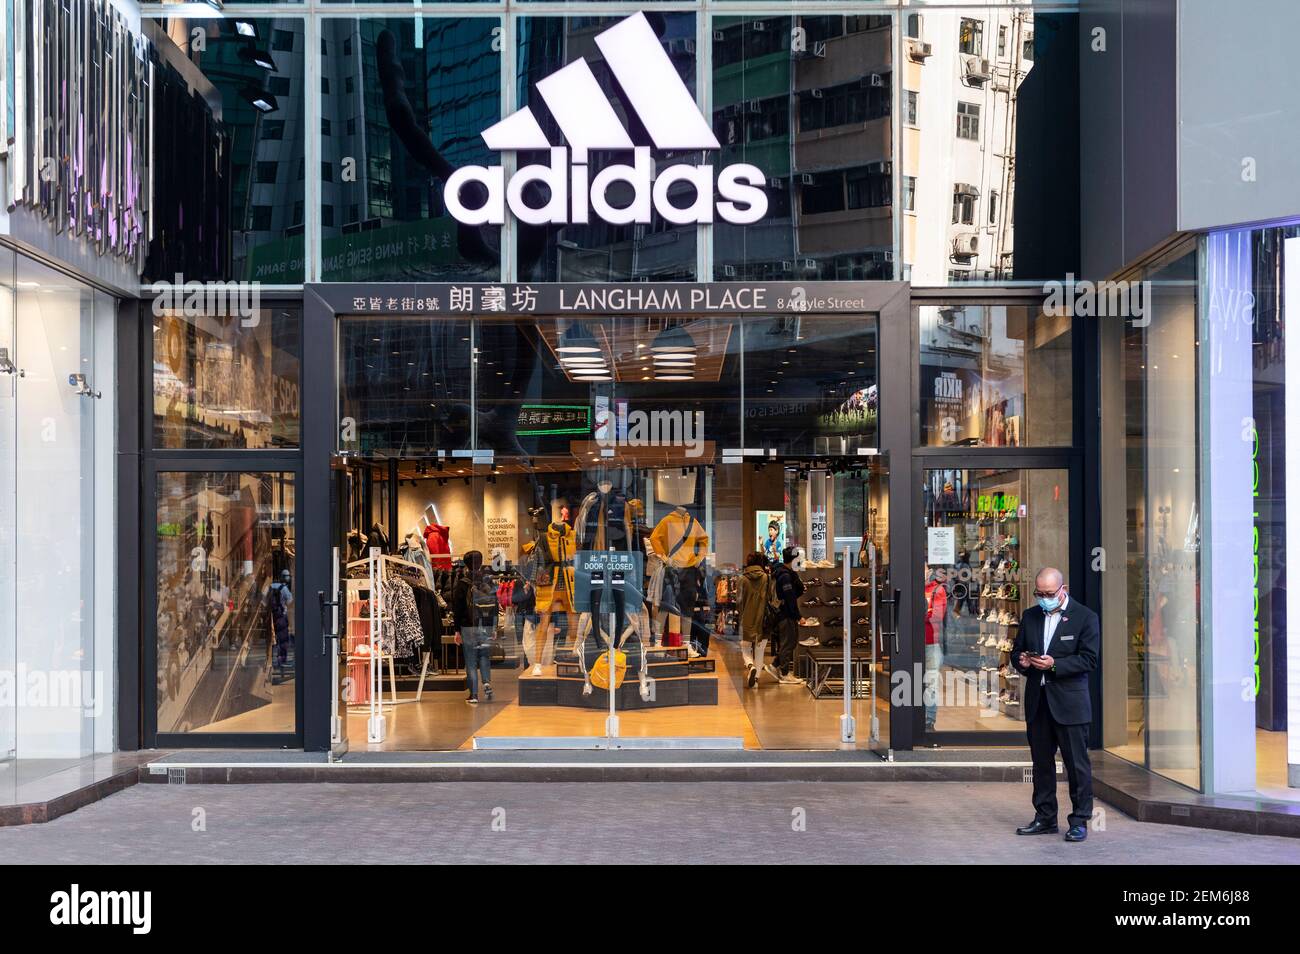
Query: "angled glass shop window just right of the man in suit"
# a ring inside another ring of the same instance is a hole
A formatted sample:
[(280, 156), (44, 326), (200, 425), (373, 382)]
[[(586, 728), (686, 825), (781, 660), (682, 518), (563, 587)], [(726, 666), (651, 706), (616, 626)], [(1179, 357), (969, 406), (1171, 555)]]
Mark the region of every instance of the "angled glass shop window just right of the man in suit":
[(1123, 407), (1104, 439), (1104, 493), (1124, 500), (1123, 526), (1113, 508), (1102, 535), (1114, 573), (1102, 630), (1105, 745), (1190, 788), (1201, 784), (1202, 715), (1196, 274), (1195, 252), (1148, 269), (1147, 317), (1115, 322), (1102, 344), (1104, 355), (1118, 351), (1102, 390), (1117, 387)]

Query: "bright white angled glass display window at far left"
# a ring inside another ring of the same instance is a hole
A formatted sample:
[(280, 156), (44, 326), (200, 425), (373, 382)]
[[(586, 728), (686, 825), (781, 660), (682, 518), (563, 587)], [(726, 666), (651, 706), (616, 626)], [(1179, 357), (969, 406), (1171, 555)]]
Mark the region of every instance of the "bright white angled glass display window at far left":
[(117, 303), (0, 250), (0, 782), (114, 749)]

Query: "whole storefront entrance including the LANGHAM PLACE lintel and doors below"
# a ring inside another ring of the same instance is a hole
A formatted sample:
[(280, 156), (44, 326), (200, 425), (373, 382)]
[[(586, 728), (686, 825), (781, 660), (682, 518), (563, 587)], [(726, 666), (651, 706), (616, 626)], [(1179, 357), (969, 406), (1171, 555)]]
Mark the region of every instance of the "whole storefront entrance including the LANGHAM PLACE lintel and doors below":
[(308, 302), (335, 751), (888, 753), (900, 287), (402, 290)]

